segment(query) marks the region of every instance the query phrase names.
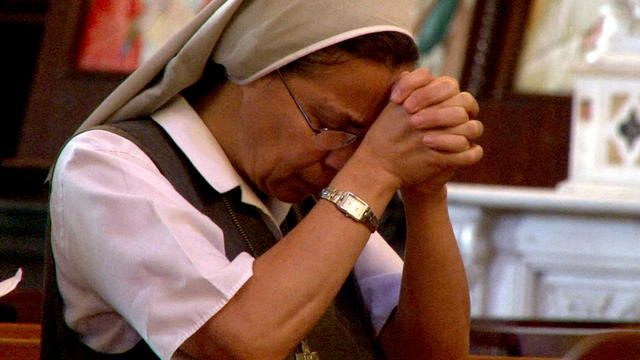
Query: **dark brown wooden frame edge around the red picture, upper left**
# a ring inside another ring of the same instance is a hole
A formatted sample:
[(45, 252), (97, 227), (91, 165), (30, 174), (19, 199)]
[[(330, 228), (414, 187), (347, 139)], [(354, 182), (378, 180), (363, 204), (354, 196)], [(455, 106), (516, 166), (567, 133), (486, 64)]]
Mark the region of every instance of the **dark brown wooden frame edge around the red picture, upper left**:
[(75, 70), (83, 1), (52, 0), (15, 166), (48, 168), (64, 141), (123, 76)]

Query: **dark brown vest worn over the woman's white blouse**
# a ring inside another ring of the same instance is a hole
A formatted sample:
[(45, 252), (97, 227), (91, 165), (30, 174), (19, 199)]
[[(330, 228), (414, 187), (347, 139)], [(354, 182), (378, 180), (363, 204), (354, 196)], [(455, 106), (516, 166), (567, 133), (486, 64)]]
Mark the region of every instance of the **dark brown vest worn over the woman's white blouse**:
[[(220, 194), (215, 191), (176, 146), (169, 135), (151, 119), (131, 120), (100, 128), (136, 143), (171, 182), (176, 191), (196, 209), (209, 216), (224, 232), (229, 260), (245, 251), (260, 256), (277, 241), (262, 220), (259, 210), (240, 201), (240, 189)], [(299, 221), (300, 207), (294, 207), (285, 223)], [(49, 234), (47, 234), (49, 235)], [(42, 360), (157, 359), (141, 340), (123, 354), (102, 354), (82, 344), (78, 334), (66, 326), (63, 304), (55, 280), (51, 243), (45, 260), (45, 305), (42, 326)], [(307, 341), (323, 360), (383, 359), (367, 318), (353, 273), (318, 321)], [(296, 351), (297, 352), (297, 351)], [(293, 359), (293, 354), (287, 359)]]

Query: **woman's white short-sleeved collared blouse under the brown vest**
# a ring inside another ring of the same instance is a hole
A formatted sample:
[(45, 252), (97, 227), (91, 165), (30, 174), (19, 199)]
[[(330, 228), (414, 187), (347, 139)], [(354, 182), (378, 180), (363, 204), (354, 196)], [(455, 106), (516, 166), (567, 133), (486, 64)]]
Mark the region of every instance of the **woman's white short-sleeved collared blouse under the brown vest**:
[[(180, 96), (157, 121), (218, 192), (280, 224), (290, 208), (263, 203)], [(50, 202), (57, 280), (67, 324), (101, 352), (142, 338), (161, 359), (220, 310), (252, 276), (253, 257), (225, 256), (222, 230), (178, 194), (131, 141), (103, 130), (74, 137), (58, 158)], [(378, 332), (398, 301), (402, 260), (372, 234), (355, 274)]]

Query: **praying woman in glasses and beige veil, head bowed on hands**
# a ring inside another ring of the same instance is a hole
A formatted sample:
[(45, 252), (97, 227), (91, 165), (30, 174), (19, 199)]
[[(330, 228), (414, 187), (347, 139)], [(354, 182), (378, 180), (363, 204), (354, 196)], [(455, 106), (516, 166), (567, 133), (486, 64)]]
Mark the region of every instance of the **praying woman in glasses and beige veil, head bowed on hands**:
[[(62, 327), (78, 337), (58, 350), (463, 358), (444, 184), (482, 156), (482, 126), (454, 80), (412, 70), (412, 6), (214, 1), (132, 74), (53, 172)], [(397, 190), (404, 264), (375, 233)]]

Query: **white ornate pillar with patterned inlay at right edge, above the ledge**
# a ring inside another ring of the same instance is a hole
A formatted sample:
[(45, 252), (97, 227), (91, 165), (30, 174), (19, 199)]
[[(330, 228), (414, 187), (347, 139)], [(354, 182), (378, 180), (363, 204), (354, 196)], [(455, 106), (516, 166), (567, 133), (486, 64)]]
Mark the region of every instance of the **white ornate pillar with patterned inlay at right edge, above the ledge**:
[(604, 6), (595, 47), (576, 64), (562, 191), (640, 200), (639, 10), (637, 0)]

